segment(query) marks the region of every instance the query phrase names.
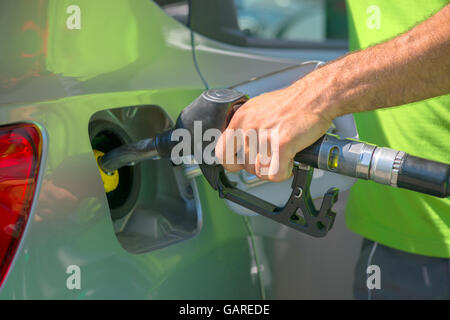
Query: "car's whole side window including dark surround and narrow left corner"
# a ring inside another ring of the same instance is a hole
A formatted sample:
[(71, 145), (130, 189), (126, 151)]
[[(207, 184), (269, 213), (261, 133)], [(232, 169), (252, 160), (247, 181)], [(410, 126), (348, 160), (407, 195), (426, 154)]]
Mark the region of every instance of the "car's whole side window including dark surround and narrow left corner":
[(347, 48), (345, 0), (155, 0), (214, 40), (247, 47)]

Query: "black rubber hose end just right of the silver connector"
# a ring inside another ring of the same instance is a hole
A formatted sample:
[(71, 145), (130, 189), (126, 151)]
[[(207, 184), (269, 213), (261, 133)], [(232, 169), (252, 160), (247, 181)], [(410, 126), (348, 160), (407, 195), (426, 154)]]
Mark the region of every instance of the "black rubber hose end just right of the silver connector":
[(450, 165), (407, 154), (398, 172), (397, 186), (447, 198), (450, 196)]

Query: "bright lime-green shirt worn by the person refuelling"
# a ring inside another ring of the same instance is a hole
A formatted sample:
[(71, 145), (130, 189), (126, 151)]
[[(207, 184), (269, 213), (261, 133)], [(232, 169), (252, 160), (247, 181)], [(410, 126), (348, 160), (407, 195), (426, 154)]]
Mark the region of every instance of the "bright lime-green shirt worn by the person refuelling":
[[(426, 20), (447, 0), (347, 0), (350, 49), (391, 39)], [(443, 26), (444, 27), (444, 26)], [(355, 114), (360, 139), (450, 163), (450, 95)], [(358, 181), (350, 192), (347, 226), (386, 246), (450, 257), (450, 199)]]

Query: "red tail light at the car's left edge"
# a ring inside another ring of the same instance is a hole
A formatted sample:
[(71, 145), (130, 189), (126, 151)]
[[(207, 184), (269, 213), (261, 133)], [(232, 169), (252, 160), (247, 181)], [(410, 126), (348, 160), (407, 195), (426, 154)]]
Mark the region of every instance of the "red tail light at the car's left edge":
[(0, 127), (0, 286), (27, 225), (41, 144), (32, 124)]

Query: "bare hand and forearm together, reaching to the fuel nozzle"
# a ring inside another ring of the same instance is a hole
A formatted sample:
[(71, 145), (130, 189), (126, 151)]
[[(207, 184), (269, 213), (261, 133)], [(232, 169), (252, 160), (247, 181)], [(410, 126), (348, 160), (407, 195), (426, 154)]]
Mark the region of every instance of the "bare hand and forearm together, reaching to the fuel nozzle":
[[(449, 92), (450, 5), (447, 5), (402, 35), (332, 61), (285, 89), (250, 99), (236, 111), (219, 138), (216, 157), (229, 171), (245, 169), (260, 179), (282, 181), (291, 176), (295, 154), (319, 139), (336, 117)], [(243, 148), (244, 164), (227, 162), (224, 155), (237, 151), (231, 134), (236, 129), (244, 133), (278, 130), (278, 170), (262, 174), (261, 168), (270, 164), (262, 164), (257, 153), (250, 159), (252, 153), (247, 145)]]

